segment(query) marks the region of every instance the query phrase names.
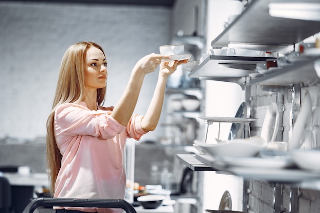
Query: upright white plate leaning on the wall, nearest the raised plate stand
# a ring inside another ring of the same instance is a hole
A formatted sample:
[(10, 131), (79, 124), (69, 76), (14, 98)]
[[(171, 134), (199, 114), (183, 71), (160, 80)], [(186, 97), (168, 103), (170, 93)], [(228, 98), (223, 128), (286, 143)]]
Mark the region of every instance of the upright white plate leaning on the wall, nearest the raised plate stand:
[(279, 110), (275, 102), (272, 102), (263, 120), (260, 136), (267, 142), (275, 141), (279, 128)]

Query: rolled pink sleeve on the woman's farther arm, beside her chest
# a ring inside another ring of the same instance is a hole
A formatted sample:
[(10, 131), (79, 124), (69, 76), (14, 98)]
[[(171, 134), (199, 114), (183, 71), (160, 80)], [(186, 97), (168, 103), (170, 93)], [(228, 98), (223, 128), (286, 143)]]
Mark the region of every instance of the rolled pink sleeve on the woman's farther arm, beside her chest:
[(135, 140), (140, 140), (141, 136), (146, 134), (142, 127), (141, 121), (144, 116), (133, 114), (127, 126), (127, 136), (129, 138), (134, 138)]

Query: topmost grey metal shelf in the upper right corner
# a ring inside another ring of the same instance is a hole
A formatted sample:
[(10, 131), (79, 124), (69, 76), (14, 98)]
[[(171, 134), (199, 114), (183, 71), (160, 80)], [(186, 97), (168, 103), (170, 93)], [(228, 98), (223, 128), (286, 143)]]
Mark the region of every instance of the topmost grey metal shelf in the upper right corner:
[(318, 0), (255, 0), (212, 41), (211, 45), (222, 47), (234, 44), (234, 48), (288, 52), (295, 43), (320, 32), (320, 21), (269, 15), (270, 3), (294, 2), (318, 3)]

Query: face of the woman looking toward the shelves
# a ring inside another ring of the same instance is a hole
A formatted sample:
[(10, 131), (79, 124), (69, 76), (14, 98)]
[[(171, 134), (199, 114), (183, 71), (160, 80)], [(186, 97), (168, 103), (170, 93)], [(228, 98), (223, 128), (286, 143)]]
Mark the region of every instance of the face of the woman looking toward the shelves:
[(84, 80), (87, 89), (99, 89), (106, 86), (107, 60), (98, 48), (91, 47), (87, 51)]

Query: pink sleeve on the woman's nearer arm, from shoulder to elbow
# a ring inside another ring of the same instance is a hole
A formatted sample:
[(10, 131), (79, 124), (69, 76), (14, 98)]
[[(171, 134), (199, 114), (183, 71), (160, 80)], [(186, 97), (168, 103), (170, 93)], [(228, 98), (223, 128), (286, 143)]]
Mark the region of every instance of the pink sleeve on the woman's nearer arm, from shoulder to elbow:
[(125, 127), (111, 116), (111, 111), (90, 111), (78, 104), (62, 104), (55, 110), (55, 131), (57, 137), (75, 135), (112, 138)]

